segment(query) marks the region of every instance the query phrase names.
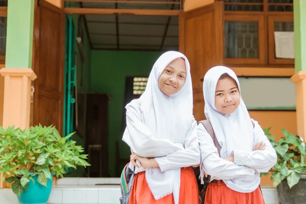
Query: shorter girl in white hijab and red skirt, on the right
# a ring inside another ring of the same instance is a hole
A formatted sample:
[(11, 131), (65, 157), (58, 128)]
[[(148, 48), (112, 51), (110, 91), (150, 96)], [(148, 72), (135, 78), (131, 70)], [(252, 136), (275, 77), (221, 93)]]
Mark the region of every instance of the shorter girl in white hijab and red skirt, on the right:
[(205, 203), (265, 203), (259, 188), (260, 172), (268, 172), (277, 157), (257, 121), (250, 118), (241, 97), (238, 78), (224, 66), (211, 68), (203, 82), (205, 116), (221, 146), (198, 124), (201, 181), (211, 175)]

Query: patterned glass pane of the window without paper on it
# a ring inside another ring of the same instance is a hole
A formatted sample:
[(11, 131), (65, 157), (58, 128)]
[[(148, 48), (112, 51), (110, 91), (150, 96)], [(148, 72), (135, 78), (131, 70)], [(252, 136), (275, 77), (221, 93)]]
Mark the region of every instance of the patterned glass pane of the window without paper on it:
[(259, 58), (258, 21), (225, 21), (225, 58)]

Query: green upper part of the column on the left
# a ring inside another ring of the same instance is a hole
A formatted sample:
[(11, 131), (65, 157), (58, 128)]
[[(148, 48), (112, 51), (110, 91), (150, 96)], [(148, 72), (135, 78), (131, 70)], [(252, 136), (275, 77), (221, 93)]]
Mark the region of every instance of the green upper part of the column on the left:
[(31, 68), (35, 0), (9, 0), (6, 68)]

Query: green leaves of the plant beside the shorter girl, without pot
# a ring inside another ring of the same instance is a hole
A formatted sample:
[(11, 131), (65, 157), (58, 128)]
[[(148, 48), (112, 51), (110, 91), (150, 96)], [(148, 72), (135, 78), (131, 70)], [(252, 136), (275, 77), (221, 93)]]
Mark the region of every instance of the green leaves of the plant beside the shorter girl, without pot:
[(271, 179), (274, 186), (278, 186), (284, 179), (290, 188), (300, 180), (300, 174), (306, 173), (305, 143), (302, 137), (292, 135), (282, 129), (283, 137), (278, 142), (269, 133), (271, 127), (264, 130), (277, 154), (277, 163), (271, 168)]

